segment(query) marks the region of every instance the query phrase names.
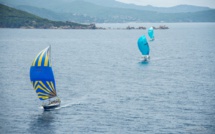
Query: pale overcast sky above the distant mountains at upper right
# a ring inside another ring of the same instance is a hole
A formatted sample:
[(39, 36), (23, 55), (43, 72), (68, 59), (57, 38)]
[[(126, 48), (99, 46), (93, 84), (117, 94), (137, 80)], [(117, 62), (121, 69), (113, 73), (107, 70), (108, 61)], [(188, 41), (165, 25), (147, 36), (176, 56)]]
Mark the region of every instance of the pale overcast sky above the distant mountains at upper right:
[(157, 7), (171, 7), (186, 4), (215, 8), (215, 0), (116, 0), (116, 1), (143, 6), (152, 5)]

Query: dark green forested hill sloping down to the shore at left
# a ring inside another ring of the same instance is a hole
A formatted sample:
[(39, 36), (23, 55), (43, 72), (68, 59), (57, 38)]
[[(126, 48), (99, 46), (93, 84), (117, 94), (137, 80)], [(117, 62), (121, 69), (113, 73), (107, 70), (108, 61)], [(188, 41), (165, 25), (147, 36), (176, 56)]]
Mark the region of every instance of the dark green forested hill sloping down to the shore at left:
[(41, 29), (94, 29), (95, 25), (83, 25), (74, 22), (51, 21), (0, 4), (1, 28), (41, 28)]

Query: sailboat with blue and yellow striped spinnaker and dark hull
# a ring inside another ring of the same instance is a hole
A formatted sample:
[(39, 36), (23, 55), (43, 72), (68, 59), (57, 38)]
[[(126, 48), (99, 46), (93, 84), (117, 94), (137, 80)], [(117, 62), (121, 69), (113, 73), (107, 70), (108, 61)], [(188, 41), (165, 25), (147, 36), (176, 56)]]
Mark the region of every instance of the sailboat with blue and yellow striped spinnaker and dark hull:
[(30, 80), (45, 110), (60, 106), (51, 65), (51, 46), (42, 50), (30, 67)]

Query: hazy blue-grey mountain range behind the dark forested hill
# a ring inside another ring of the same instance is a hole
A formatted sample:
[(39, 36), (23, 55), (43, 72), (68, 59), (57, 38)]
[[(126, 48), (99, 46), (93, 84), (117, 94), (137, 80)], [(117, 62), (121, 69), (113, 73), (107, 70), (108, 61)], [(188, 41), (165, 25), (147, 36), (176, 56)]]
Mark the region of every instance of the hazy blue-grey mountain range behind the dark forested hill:
[(51, 2), (0, 0), (0, 2), (51, 20), (81, 23), (215, 22), (215, 10), (188, 5), (171, 8), (144, 7), (114, 0), (51, 0)]

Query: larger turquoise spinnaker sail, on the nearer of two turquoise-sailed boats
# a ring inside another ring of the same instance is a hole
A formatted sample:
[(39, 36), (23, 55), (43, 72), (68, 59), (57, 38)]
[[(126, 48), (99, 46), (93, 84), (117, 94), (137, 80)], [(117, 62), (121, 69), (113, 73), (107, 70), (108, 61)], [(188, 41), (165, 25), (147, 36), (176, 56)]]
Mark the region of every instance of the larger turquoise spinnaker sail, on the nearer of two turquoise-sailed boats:
[(142, 35), (138, 39), (137, 44), (138, 44), (138, 48), (139, 48), (140, 52), (142, 53), (142, 55), (149, 55), (150, 49), (149, 49), (149, 44), (147, 42), (145, 35)]

